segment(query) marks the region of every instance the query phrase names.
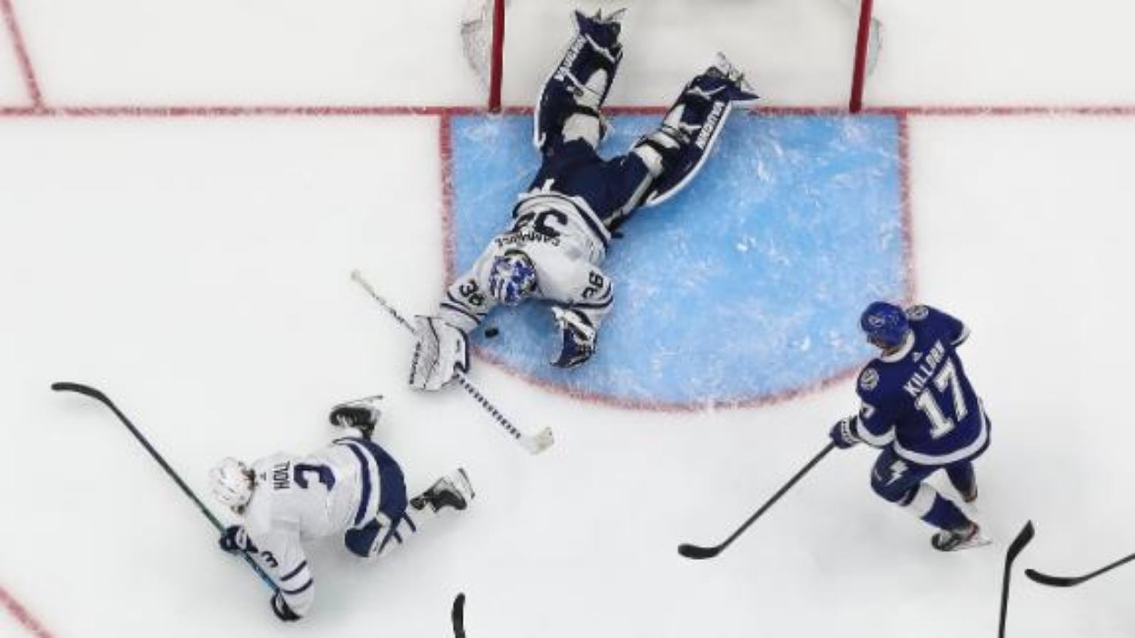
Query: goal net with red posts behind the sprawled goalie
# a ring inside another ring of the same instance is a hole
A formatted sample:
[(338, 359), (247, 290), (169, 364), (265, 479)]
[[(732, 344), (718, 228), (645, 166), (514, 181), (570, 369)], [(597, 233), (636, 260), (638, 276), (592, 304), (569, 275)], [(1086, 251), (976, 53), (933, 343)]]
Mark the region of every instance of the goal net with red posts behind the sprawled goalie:
[(529, 106), (573, 33), (572, 10), (627, 8), (608, 103), (669, 104), (717, 51), (765, 103), (857, 111), (880, 57), (872, 0), (466, 0), (465, 57), (490, 110)]

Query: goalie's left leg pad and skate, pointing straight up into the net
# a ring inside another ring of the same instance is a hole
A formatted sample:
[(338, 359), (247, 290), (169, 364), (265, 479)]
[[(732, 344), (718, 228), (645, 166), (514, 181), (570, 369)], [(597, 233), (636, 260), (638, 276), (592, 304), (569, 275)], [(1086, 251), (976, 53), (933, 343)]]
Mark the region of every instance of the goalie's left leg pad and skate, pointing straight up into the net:
[(623, 59), (619, 42), (623, 12), (619, 9), (604, 16), (600, 9), (586, 16), (575, 11), (575, 37), (536, 102), (536, 148), (544, 150), (549, 143), (555, 148), (573, 140), (598, 146), (607, 131), (599, 109)]

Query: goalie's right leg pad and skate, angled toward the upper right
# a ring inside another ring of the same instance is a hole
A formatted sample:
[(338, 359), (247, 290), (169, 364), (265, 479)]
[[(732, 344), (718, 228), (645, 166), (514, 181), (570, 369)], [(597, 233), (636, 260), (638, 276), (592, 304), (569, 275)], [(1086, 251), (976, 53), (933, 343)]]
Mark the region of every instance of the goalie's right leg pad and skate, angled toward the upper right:
[(662, 203), (680, 191), (709, 156), (732, 108), (757, 99), (745, 75), (717, 53), (713, 66), (686, 85), (662, 126), (634, 144), (633, 152), (655, 177), (644, 205)]

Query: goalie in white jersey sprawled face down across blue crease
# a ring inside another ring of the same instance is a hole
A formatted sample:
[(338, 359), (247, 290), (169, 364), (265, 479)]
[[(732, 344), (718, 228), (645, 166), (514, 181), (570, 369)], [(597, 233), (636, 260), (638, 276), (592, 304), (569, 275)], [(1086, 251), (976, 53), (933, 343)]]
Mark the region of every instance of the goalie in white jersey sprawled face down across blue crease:
[(562, 346), (554, 366), (572, 368), (596, 347), (614, 288), (600, 265), (612, 233), (632, 211), (681, 190), (708, 157), (737, 104), (757, 95), (718, 57), (691, 79), (655, 132), (609, 160), (597, 148), (600, 114), (622, 60), (623, 11), (575, 12), (577, 35), (544, 85), (533, 142), (543, 162), (519, 196), (512, 224), (446, 291), (435, 316), (418, 317), (410, 385), (436, 391), (468, 371), (466, 335), (498, 304), (550, 303)]

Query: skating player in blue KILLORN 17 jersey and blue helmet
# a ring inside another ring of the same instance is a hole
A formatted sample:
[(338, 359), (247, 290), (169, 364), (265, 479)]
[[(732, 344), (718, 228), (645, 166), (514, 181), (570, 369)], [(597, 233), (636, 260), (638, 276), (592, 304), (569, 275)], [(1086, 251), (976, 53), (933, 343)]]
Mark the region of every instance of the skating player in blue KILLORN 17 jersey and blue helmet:
[(843, 448), (863, 442), (882, 450), (872, 488), (939, 528), (934, 548), (986, 544), (981, 527), (926, 482), (945, 470), (965, 502), (977, 498), (973, 461), (989, 447), (990, 421), (958, 359), (968, 328), (926, 305), (903, 311), (878, 301), (859, 324), (882, 354), (859, 373), (858, 414), (832, 427), (832, 439)]

